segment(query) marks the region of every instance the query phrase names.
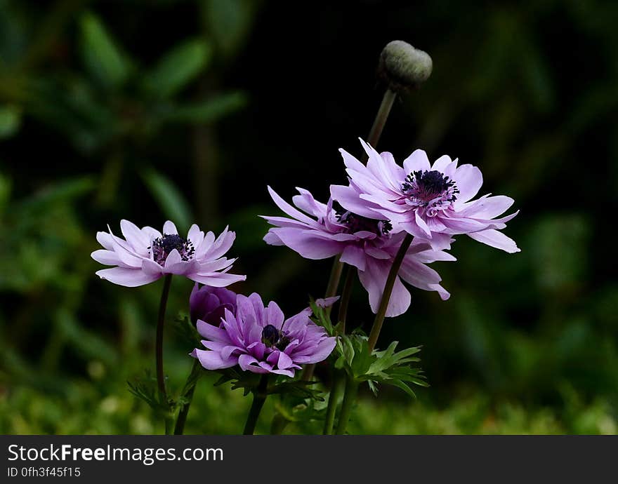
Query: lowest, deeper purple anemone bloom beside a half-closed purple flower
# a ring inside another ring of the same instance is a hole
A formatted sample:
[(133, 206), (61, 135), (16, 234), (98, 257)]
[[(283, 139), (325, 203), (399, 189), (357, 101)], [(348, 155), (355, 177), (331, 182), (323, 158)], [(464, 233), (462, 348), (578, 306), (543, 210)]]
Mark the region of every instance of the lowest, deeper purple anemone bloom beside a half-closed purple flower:
[(236, 314), (225, 309), (221, 327), (197, 321), (207, 350), (191, 356), (207, 370), (239, 365), (244, 371), (293, 377), (301, 365), (319, 363), (333, 351), (336, 338), (310, 320), (310, 309), (287, 318), (275, 302), (264, 307), (261, 297), (237, 295)]

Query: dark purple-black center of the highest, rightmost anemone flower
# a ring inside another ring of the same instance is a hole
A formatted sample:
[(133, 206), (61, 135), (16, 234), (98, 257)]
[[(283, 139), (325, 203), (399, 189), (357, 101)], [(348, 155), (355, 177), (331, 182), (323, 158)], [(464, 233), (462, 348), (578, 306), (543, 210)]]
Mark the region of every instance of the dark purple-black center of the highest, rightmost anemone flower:
[(426, 208), (426, 214), (435, 216), (457, 199), (459, 193), (454, 180), (438, 170), (418, 170), (407, 175), (401, 190), (412, 206)]

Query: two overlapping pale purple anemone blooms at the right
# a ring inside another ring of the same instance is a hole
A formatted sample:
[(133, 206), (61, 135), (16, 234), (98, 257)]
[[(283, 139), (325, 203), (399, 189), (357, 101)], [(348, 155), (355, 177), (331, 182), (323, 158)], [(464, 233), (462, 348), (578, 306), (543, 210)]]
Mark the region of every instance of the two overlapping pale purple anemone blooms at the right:
[(367, 166), (341, 149), (349, 184), (331, 185), (326, 204), (298, 188), (299, 194), (292, 199), (294, 208), (268, 187), (287, 217), (264, 217), (274, 226), (264, 237), (267, 243), (287, 246), (308, 259), (339, 255), (341, 262), (358, 270), (376, 313), (397, 250), (405, 235), (411, 234), (414, 239), (397, 273), (386, 310), (386, 316), (391, 317), (404, 313), (410, 305), (410, 293), (402, 280), (448, 299), (439, 274), (426, 264), (455, 260), (445, 252), (454, 242), (453, 236), (467, 234), (509, 253), (519, 251), (515, 242), (499, 231), (517, 213), (496, 218), (513, 199), (485, 195), (471, 201), (482, 184), (478, 168), (458, 167), (457, 160), (448, 156), (431, 165), (420, 149), (408, 156), (402, 167), (392, 154), (379, 154), (361, 143), (369, 156)]

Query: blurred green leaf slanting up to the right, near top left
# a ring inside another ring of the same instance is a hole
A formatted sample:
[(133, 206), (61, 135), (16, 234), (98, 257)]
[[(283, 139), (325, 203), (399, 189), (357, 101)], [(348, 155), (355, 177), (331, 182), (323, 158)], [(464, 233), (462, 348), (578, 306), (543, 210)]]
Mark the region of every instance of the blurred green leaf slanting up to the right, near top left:
[(195, 79), (211, 58), (212, 48), (205, 41), (193, 39), (176, 46), (146, 74), (144, 84), (147, 93), (169, 98)]

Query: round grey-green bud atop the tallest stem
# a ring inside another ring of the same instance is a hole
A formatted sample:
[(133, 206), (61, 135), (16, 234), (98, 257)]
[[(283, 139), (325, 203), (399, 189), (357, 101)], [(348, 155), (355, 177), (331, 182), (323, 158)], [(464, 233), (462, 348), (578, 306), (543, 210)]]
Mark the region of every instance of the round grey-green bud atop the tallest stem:
[(386, 44), (380, 54), (378, 74), (396, 92), (418, 88), (426, 81), (433, 68), (428, 53), (404, 41)]

